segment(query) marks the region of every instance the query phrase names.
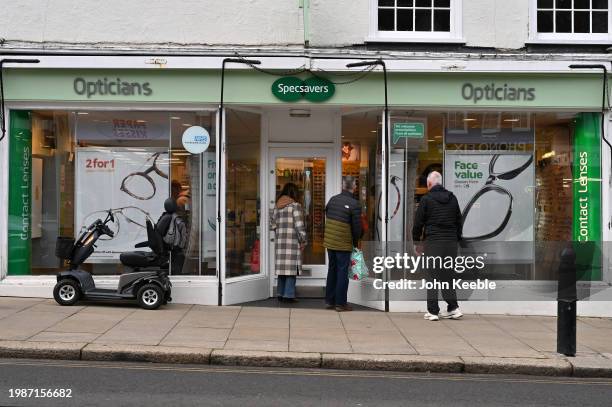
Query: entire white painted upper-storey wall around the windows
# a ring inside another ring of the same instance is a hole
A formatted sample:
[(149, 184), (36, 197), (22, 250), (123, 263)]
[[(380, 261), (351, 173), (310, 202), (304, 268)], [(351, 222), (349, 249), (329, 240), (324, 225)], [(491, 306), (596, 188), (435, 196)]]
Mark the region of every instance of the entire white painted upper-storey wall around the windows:
[[(310, 45), (364, 44), (375, 0), (310, 0)], [(7, 46), (88, 47), (301, 46), (298, 0), (2, 0), (0, 38)], [(522, 48), (529, 0), (463, 0), (470, 47)], [(436, 46), (432, 46), (435, 48)]]

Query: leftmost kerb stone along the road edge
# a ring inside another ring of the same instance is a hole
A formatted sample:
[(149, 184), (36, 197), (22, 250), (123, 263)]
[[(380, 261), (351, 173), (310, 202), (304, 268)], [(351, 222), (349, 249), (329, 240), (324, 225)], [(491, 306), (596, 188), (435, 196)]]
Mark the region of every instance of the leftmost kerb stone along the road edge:
[(0, 357), (78, 360), (86, 343), (0, 341)]

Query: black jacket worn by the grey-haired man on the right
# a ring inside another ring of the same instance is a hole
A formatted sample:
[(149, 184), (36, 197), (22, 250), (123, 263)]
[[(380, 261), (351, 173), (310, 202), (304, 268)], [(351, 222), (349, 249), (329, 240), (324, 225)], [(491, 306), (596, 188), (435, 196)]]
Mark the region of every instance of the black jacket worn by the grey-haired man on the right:
[(461, 209), (452, 192), (436, 185), (421, 198), (414, 217), (412, 239), (418, 241), (461, 240)]

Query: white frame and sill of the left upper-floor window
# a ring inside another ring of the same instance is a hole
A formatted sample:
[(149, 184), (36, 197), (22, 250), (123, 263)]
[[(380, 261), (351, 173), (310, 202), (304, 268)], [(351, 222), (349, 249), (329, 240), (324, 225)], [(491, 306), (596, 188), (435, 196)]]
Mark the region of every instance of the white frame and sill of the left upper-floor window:
[(465, 43), (463, 39), (463, 0), (450, 0), (450, 31), (448, 32), (379, 31), (378, 0), (370, 0), (370, 32), (366, 42)]

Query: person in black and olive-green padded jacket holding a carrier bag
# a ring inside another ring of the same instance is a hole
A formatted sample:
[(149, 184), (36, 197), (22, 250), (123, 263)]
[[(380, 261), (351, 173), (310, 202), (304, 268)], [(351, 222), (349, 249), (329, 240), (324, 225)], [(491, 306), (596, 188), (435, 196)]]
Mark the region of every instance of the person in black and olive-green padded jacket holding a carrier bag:
[(327, 249), (329, 269), (325, 286), (327, 309), (352, 311), (347, 304), (348, 271), (353, 248), (362, 235), (361, 204), (354, 197), (355, 178), (342, 178), (342, 192), (333, 196), (325, 206), (323, 246)]

